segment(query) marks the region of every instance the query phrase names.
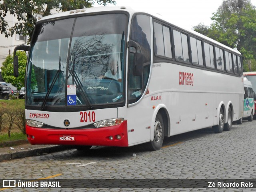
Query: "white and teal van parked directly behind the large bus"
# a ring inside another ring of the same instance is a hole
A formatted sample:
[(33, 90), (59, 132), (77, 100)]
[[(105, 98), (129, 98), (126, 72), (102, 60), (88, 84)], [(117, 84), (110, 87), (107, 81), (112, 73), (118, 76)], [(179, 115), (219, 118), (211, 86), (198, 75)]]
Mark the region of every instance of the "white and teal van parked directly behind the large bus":
[[(253, 120), (255, 112), (254, 105), (254, 91), (252, 88), (252, 83), (244, 77), (244, 114), (243, 118), (248, 119), (248, 121)], [(242, 124), (242, 118), (238, 120), (238, 124)]]

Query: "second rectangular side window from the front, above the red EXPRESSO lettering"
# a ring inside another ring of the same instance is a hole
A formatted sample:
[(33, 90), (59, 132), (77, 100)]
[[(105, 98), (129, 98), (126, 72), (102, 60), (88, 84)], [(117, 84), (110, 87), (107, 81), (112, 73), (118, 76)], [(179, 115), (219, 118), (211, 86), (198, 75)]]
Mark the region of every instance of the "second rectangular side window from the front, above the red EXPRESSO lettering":
[(189, 62), (188, 56), (188, 37), (181, 32), (173, 30), (174, 36), (174, 50), (175, 50), (175, 58), (177, 60), (182, 60)]

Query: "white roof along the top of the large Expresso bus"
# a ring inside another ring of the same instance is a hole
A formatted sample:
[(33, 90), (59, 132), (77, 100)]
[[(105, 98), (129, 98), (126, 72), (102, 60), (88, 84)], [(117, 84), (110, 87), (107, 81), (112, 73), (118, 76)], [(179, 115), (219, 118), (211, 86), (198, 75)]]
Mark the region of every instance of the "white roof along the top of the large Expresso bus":
[(232, 52), (236, 52), (236, 54), (241, 55), (241, 53), (238, 50), (234, 50), (224, 44), (221, 44), (220, 42), (213, 40), (207, 36), (204, 36), (203, 34), (200, 34), (192, 29), (186, 29), (183, 28), (181, 26), (179, 26), (178, 24), (175, 24), (175, 21), (171, 20), (172, 18), (166, 18), (163, 17), (161, 14), (156, 13), (156, 12), (148, 12), (148, 10), (146, 10), (145, 8), (132, 8), (130, 6), (99, 6), (99, 7), (91, 7), (91, 8), (84, 8), (84, 9), (78, 9), (78, 10), (70, 10), (70, 11), (65, 11), (65, 12), (59, 12), (56, 14), (52, 14), (49, 16), (45, 16), (43, 18), (41, 18), (39, 21), (43, 21), (43, 20), (51, 20), (51, 19), (55, 19), (55, 18), (62, 18), (62, 17), (67, 17), (67, 16), (71, 16), (71, 15), (82, 15), (82, 14), (88, 14), (88, 13), (94, 13), (94, 12), (108, 12), (108, 11), (124, 11), (124, 12), (128, 12), (130, 15), (133, 15), (134, 13), (146, 13), (149, 14), (151, 16), (153, 16), (154, 18), (158, 18), (164, 22), (167, 22), (168, 24), (179, 28), (185, 32), (188, 32), (189, 34), (192, 34), (194, 36), (197, 36), (199, 38), (202, 38), (208, 42), (212, 42), (218, 46), (221, 46), (223, 48), (226, 48), (227, 50), (230, 50)]

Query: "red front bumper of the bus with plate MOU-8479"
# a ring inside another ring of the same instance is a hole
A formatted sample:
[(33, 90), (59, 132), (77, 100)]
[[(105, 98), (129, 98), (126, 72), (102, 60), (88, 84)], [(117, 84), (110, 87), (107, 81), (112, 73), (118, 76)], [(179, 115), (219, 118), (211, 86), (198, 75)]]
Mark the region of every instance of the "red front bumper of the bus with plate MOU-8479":
[(94, 129), (46, 129), (26, 125), (30, 144), (128, 146), (127, 120), (116, 126)]

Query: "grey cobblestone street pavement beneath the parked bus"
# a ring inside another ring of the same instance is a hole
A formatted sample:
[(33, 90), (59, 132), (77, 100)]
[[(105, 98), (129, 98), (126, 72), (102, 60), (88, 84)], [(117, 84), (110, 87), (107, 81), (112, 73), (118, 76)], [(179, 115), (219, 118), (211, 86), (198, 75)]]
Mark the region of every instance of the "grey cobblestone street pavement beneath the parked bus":
[[(93, 146), (0, 162), (3, 179), (256, 179), (256, 121), (214, 134), (205, 128), (165, 138), (161, 150)], [(83, 181), (83, 180), (82, 180)], [(81, 181), (81, 182), (82, 182)], [(104, 186), (104, 185), (103, 185)], [(190, 185), (188, 184), (188, 187)], [(184, 186), (183, 186), (184, 187)], [(256, 186), (254, 186), (256, 187)], [(1, 190), (1, 188), (0, 188)], [(5, 188), (6, 191), (256, 191), (256, 188)]]

